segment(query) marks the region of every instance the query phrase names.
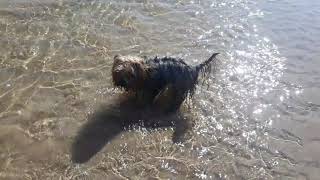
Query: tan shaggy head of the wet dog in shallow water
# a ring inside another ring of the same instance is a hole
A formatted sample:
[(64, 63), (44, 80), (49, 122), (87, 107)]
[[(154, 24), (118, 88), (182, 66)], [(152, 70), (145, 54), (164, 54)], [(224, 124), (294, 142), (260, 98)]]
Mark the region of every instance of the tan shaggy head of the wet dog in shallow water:
[(127, 91), (139, 90), (147, 76), (146, 68), (143, 58), (116, 55), (112, 67), (113, 84)]

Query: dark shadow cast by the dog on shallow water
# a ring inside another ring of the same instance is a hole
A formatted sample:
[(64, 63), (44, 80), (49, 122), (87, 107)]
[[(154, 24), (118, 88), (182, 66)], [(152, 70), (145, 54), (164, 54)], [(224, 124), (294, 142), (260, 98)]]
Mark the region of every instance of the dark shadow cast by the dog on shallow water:
[(140, 107), (131, 98), (103, 107), (82, 126), (71, 147), (72, 161), (85, 163), (108, 142), (133, 126), (147, 129), (173, 127), (173, 142), (181, 142), (191, 128), (180, 112), (163, 113), (151, 107)]

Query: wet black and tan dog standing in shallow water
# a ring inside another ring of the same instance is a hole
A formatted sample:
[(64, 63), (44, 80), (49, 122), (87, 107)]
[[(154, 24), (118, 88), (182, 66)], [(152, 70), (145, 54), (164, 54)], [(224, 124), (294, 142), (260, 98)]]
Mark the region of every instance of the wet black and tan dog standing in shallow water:
[(199, 75), (206, 78), (218, 54), (214, 53), (197, 66), (171, 57), (148, 59), (116, 55), (112, 67), (113, 84), (134, 93), (137, 102), (144, 106), (174, 112), (188, 95), (194, 94)]

